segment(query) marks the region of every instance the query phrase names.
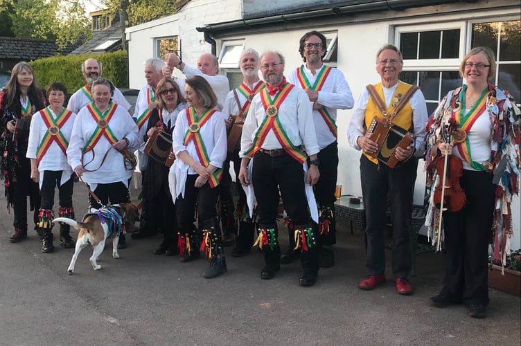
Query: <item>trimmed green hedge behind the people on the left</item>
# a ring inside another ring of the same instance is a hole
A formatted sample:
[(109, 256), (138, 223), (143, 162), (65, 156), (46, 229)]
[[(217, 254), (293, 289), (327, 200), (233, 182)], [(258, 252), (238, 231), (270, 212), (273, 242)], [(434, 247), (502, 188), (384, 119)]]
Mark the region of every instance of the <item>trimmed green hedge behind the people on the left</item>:
[(37, 84), (46, 89), (52, 82), (62, 82), (73, 93), (85, 85), (81, 64), (93, 57), (103, 65), (103, 77), (112, 80), (118, 88), (128, 88), (127, 51), (103, 54), (66, 55), (33, 60)]

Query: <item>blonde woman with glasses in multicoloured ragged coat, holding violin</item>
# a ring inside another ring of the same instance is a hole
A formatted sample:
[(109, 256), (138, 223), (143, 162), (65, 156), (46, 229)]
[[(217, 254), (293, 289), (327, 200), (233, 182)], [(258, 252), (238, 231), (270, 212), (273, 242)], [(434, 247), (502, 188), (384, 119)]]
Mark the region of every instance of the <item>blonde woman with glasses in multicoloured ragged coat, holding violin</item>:
[(459, 185), (466, 199), (461, 210), (441, 215), (430, 206), (433, 226), (443, 218), (448, 256), (443, 288), (430, 301), (435, 307), (465, 304), (473, 318), (486, 317), (489, 239), (493, 231), (512, 232), (510, 201), (518, 193), (519, 119), (510, 95), (488, 84), (495, 68), (490, 48), (468, 52), (459, 66), (466, 84), (449, 91), (427, 124), (427, 170), (433, 185), (443, 176), (430, 163), (454, 156), (463, 166)]

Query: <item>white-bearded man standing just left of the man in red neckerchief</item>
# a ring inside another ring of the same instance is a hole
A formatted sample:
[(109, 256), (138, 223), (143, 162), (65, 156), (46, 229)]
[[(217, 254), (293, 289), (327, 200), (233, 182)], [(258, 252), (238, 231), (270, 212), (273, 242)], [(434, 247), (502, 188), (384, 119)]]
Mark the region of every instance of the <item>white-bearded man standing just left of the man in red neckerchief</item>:
[[(228, 158), (227, 161), (233, 161), (233, 170), (239, 176), (240, 168), (240, 133), (242, 131), (242, 122), (247, 117), (251, 100), (254, 96), (265, 88), (265, 82), (258, 78), (260, 57), (253, 48), (247, 48), (240, 54), (239, 68), (242, 73), (242, 84), (237, 89), (230, 91), (224, 100), (224, 108), (222, 115), (225, 117), (237, 116), (235, 125), (228, 135)], [(251, 245), (254, 244), (255, 224), (249, 217), (249, 210), (247, 207), (247, 199), (239, 179), (236, 179), (237, 190), (239, 193), (239, 200), (236, 208), (236, 222), (239, 225), (239, 235), (237, 237), (236, 247), (231, 251), (233, 257), (241, 257), (249, 253)], [(224, 235), (226, 236), (226, 235)], [(224, 237), (223, 237), (224, 242)]]

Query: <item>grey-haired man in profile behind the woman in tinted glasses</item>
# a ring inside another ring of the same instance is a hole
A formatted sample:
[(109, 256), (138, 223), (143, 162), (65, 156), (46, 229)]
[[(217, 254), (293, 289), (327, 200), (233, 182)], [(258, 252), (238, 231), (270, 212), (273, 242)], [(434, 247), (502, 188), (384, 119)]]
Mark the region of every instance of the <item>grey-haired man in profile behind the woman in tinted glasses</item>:
[[(134, 116), (132, 116), (132, 118), (136, 122), (137, 128), (139, 129), (140, 145), (138, 149), (138, 161), (139, 171), (141, 172), (141, 181), (143, 181), (143, 177), (146, 174), (146, 167), (148, 165), (148, 155), (144, 152), (145, 141), (143, 140), (143, 138), (146, 134), (148, 118), (150, 118), (150, 113), (152, 113), (152, 109), (154, 109), (155, 107), (155, 89), (157, 83), (159, 83), (161, 78), (163, 78), (163, 73), (161, 69), (163, 69), (163, 66), (165, 66), (165, 62), (157, 57), (152, 57), (146, 60), (143, 63), (143, 65), (145, 66), (146, 84), (141, 87), (141, 90), (139, 90), (139, 94), (137, 95), (136, 99), (136, 106), (134, 107)], [(130, 235), (132, 239), (141, 239), (157, 234), (157, 229), (150, 229), (150, 227), (148, 227), (152, 226), (149, 224), (149, 220), (147, 218), (147, 209), (149, 207), (150, 206), (148, 206), (147, 201), (145, 201), (145, 199), (143, 198), (143, 200), (141, 201), (139, 231)]]

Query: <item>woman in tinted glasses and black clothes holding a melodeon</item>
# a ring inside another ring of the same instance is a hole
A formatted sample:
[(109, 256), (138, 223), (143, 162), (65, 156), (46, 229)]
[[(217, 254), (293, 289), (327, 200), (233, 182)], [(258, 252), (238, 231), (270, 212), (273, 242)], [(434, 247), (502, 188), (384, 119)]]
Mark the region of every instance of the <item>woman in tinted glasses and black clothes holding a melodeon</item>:
[[(145, 143), (155, 131), (163, 131), (172, 138), (177, 116), (188, 107), (179, 86), (172, 78), (163, 78), (157, 83), (156, 107), (152, 109), (148, 127), (143, 138)], [(143, 179), (143, 201), (145, 210), (146, 233), (163, 234), (163, 241), (154, 250), (154, 255), (173, 256), (179, 253), (177, 248), (177, 218), (175, 206), (168, 190), (168, 168), (163, 163), (149, 158)]]

